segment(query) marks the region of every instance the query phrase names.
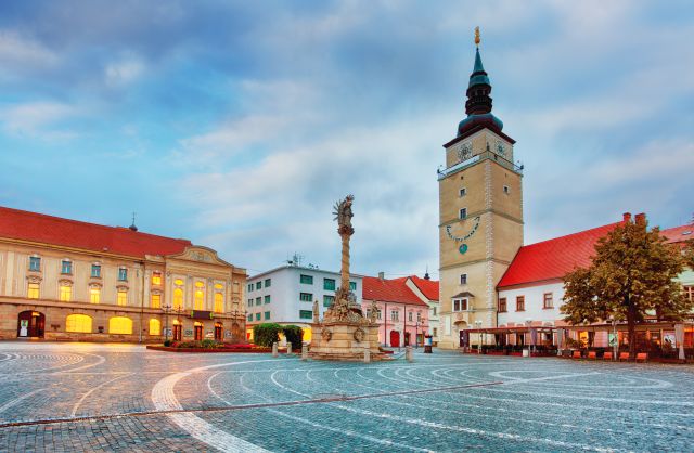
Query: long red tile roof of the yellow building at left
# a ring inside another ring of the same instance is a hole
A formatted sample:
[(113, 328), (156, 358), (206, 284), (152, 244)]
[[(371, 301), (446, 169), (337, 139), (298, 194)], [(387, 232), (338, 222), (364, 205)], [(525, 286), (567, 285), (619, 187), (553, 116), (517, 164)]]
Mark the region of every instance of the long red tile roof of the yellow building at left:
[(145, 255), (180, 254), (192, 245), (188, 240), (156, 236), (123, 226), (105, 226), (4, 207), (0, 207), (0, 237), (138, 258), (144, 258)]

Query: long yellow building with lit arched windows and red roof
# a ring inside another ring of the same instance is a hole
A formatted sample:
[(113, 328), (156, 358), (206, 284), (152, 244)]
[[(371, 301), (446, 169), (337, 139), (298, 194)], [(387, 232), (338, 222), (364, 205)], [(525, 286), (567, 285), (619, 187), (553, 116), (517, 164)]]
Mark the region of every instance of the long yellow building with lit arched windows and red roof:
[(0, 207), (1, 339), (243, 340), (245, 281), (187, 240)]

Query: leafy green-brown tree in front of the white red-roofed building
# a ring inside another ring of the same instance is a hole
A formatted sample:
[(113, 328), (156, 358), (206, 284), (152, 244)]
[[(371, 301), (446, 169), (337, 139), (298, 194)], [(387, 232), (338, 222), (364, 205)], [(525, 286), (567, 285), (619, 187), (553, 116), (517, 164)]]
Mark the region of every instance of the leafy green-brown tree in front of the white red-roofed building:
[(677, 321), (691, 310), (674, 280), (684, 263), (680, 248), (666, 244), (657, 228), (648, 231), (645, 219), (625, 222), (597, 242), (588, 269), (564, 277), (564, 319), (571, 324), (626, 320), (633, 359), (637, 323), (646, 315)]

